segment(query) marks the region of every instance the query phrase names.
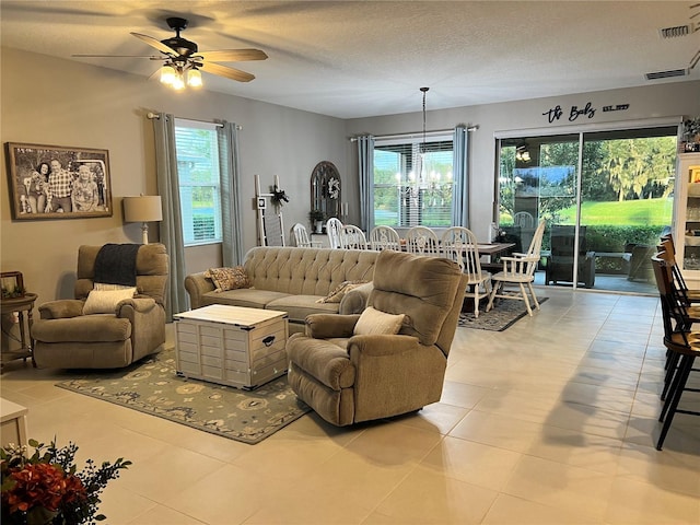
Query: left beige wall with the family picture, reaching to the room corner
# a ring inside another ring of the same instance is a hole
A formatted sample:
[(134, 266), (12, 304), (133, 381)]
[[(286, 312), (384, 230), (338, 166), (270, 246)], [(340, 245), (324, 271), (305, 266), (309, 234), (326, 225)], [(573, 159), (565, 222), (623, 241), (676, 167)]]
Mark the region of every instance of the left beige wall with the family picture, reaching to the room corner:
[[(267, 190), (279, 175), (291, 197), (283, 215), (288, 230), (306, 222), (310, 177), (320, 161), (332, 162), (343, 183), (342, 120), (220, 93), (173, 93), (158, 82), (105, 68), (14, 49), (1, 52), (2, 142), (25, 142), (109, 151), (114, 215), (98, 219), (12, 221), (3, 150), (0, 192), (0, 268), (19, 270), (38, 303), (72, 296), (81, 244), (140, 242), (139, 224), (124, 224), (124, 196), (156, 194), (149, 110), (201, 120), (226, 119), (243, 126), (241, 171), (245, 246), (257, 243), (254, 175)], [(245, 84), (255, 93), (255, 82)], [(158, 240), (152, 225), (151, 240)], [(221, 262), (219, 245), (187, 250), (189, 271)]]

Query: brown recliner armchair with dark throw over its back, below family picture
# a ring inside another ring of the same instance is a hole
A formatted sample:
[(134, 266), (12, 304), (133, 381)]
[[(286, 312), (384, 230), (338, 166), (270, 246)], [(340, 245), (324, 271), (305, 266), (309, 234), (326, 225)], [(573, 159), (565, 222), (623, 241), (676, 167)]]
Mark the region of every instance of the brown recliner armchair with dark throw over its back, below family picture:
[(75, 299), (39, 306), (40, 319), (32, 326), (37, 366), (117, 369), (162, 350), (168, 272), (165, 246), (138, 247), (132, 298), (107, 305), (110, 313), (84, 314), (86, 299), (95, 288), (95, 259), (101, 248), (79, 248)]

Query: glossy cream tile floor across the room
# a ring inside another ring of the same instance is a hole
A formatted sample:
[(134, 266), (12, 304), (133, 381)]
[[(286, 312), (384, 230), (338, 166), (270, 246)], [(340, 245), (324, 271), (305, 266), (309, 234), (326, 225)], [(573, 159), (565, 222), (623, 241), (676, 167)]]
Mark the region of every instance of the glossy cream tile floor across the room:
[(388, 422), (307, 415), (246, 445), (21, 361), (1, 393), (30, 408), (31, 436), (74, 441), (81, 463), (133, 462), (103, 494), (108, 524), (700, 523), (700, 418), (678, 415), (654, 448), (658, 300), (539, 292), (542, 310), (503, 332), (459, 328), (441, 402)]

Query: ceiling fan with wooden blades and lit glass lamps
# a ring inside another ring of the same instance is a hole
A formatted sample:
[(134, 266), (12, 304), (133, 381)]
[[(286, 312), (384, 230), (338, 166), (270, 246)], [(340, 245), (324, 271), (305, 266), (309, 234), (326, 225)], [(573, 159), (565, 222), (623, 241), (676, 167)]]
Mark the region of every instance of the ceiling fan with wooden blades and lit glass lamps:
[(171, 16), (165, 20), (168, 27), (175, 32), (175, 36), (159, 40), (152, 36), (140, 33), (131, 33), (149, 46), (161, 51), (160, 56), (135, 55), (73, 55), (73, 57), (101, 57), (101, 58), (148, 58), (161, 60), (163, 66), (159, 70), (161, 82), (182, 90), (185, 85), (198, 88), (202, 85), (201, 71), (217, 74), (238, 82), (249, 82), (254, 74), (240, 69), (221, 66), (217, 62), (238, 62), (244, 60), (265, 60), (267, 55), (259, 49), (219, 49), (200, 51), (197, 44), (179, 36), (180, 31), (187, 27), (187, 19)]

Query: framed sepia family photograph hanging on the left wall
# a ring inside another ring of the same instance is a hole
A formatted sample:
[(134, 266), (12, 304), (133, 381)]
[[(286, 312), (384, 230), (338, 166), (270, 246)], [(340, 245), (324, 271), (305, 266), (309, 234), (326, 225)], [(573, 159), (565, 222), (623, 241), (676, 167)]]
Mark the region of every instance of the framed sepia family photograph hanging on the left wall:
[(112, 217), (109, 152), (7, 142), (13, 220)]

